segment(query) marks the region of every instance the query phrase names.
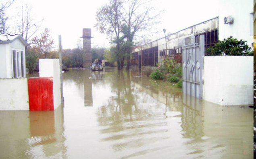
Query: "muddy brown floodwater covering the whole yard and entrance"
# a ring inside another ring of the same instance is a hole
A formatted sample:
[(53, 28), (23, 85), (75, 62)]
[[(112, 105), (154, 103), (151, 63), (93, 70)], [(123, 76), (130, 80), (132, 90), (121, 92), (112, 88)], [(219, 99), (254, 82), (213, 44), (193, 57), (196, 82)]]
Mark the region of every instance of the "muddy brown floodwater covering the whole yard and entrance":
[(64, 107), (0, 111), (0, 158), (250, 159), (253, 109), (105, 69), (63, 74)]

